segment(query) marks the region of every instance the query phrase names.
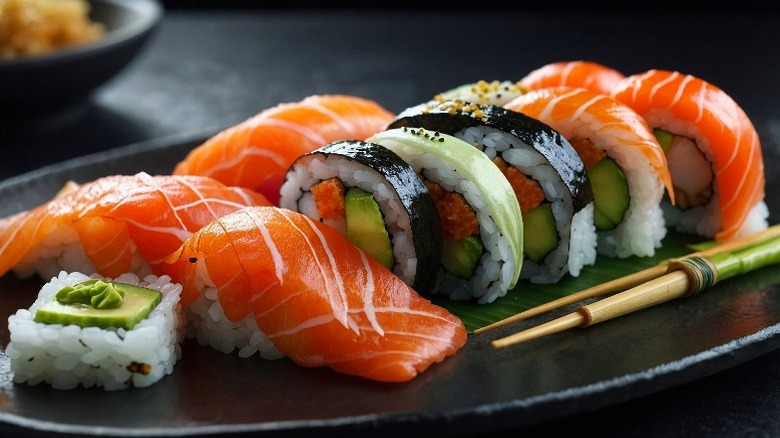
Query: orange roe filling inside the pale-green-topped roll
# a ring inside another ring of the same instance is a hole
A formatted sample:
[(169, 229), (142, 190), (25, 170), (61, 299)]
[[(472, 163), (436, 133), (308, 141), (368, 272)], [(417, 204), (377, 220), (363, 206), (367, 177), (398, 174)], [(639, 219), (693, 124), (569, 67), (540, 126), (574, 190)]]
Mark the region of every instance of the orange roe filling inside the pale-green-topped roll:
[(425, 180), (425, 186), (428, 187), (428, 192), (436, 202), (445, 237), (462, 239), (479, 234), (477, 215), (463, 195), (448, 192), (438, 183), (429, 180)]

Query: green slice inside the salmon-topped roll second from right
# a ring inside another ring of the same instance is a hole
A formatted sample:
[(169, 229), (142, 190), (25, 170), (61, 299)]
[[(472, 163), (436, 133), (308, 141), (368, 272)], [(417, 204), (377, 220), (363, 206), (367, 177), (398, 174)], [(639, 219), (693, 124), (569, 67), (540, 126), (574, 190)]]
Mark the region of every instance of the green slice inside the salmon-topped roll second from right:
[(593, 221), (598, 230), (611, 230), (623, 221), (629, 205), (628, 181), (615, 160), (605, 157), (588, 171), (593, 187)]

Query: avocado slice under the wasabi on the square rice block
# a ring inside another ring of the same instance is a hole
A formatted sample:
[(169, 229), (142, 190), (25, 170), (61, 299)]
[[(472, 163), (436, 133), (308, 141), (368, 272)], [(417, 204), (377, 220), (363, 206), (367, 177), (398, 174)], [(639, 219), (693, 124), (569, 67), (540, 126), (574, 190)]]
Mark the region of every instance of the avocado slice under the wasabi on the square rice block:
[(120, 306), (99, 309), (86, 303), (62, 303), (55, 299), (38, 309), (35, 322), (131, 330), (162, 301), (162, 293), (159, 291), (125, 283), (110, 283), (124, 293)]

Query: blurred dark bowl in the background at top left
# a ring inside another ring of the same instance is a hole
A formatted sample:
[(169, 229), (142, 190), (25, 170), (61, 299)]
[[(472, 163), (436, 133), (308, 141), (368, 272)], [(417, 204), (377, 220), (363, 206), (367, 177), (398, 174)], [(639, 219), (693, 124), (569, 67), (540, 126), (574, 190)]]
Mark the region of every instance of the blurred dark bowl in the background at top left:
[(89, 17), (106, 27), (99, 41), (0, 60), (0, 114), (13, 118), (86, 99), (135, 58), (163, 15), (157, 0), (89, 3)]

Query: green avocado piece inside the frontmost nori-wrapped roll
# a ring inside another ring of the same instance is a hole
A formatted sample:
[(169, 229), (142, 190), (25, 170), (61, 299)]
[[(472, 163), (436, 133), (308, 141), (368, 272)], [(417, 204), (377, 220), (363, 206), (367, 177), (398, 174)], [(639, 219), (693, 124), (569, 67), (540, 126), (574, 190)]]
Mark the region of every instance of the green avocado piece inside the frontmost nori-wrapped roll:
[(359, 187), (350, 187), (344, 199), (344, 208), (349, 240), (384, 267), (392, 269), (395, 262), (393, 245), (374, 196)]

